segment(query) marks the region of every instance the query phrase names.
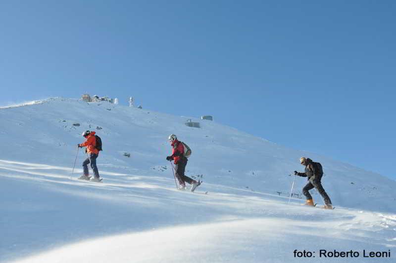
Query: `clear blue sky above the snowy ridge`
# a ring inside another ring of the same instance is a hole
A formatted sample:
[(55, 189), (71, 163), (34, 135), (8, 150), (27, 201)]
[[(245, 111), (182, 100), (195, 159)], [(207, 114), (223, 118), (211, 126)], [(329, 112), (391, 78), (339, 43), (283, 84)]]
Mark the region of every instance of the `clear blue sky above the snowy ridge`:
[(1, 1), (0, 104), (132, 95), (396, 179), (395, 13), (386, 0)]

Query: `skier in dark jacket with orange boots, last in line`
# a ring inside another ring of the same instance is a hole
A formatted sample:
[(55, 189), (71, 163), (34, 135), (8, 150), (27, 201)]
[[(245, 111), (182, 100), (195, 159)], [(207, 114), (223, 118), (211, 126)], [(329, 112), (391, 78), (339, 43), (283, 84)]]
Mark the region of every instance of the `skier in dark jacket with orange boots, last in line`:
[(301, 177), (308, 177), (308, 184), (306, 184), (306, 186), (302, 188), (302, 193), (306, 197), (305, 205), (314, 206), (312, 196), (309, 193), (309, 190), (316, 188), (320, 195), (322, 195), (325, 202), (325, 206), (323, 208), (333, 209), (330, 197), (327, 195), (325, 189), (323, 189), (321, 183), (321, 179), (323, 176), (322, 165), (320, 163), (313, 162), (311, 159), (305, 157), (300, 158), (300, 163), (305, 166), (305, 172), (299, 173), (297, 171), (294, 171), (294, 174)]

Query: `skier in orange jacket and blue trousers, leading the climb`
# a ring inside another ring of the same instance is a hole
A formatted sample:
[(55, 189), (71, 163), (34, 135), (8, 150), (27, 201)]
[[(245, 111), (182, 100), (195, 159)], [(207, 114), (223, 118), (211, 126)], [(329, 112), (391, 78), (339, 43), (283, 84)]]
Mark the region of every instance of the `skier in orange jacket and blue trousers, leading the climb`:
[(91, 163), (91, 168), (95, 175), (95, 178), (92, 179), (92, 181), (100, 182), (98, 166), (96, 165), (96, 159), (98, 158), (99, 150), (96, 148), (95, 134), (96, 132), (91, 131), (83, 132), (83, 137), (86, 139), (86, 141), (82, 144), (78, 144), (78, 148), (87, 147), (86, 151), (89, 155), (89, 157), (83, 162), (84, 174), (79, 179), (90, 180), (88, 164)]

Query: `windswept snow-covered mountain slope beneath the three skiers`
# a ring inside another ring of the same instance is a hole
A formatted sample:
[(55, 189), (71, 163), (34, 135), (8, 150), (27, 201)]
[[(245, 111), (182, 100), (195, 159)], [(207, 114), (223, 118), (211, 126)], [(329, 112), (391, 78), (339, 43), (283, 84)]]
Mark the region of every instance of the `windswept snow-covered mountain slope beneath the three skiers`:
[[(0, 260), (286, 262), (295, 249), (395, 247), (395, 181), (188, 118), (62, 98), (0, 109)], [(103, 141), (103, 184), (76, 179), (81, 151), (71, 173), (87, 129)], [(193, 150), (186, 174), (203, 174), (196, 194), (175, 189), (171, 133)], [(304, 178), (287, 204), (300, 156), (322, 163), (336, 210), (297, 206)]]

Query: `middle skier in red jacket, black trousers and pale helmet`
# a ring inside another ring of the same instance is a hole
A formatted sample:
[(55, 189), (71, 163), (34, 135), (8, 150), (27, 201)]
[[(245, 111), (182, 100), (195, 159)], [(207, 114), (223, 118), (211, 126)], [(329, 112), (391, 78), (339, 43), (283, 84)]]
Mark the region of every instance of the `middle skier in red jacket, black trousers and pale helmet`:
[(176, 170), (176, 178), (179, 181), (180, 189), (186, 188), (186, 182), (190, 185), (193, 185), (191, 191), (194, 191), (201, 182), (198, 182), (184, 174), (187, 165), (187, 158), (184, 156), (184, 145), (182, 142), (177, 140), (176, 135), (172, 134), (169, 136), (169, 142), (172, 146), (172, 155), (167, 156), (166, 160), (171, 161), (174, 160), (175, 163), (175, 170)]

